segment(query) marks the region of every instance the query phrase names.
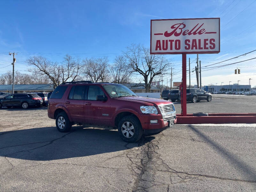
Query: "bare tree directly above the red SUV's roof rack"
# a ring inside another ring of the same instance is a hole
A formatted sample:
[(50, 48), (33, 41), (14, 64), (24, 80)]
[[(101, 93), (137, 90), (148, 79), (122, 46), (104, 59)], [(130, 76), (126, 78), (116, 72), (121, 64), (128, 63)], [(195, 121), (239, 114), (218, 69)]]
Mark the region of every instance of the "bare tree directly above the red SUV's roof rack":
[(109, 81), (108, 58), (86, 58), (83, 60), (82, 71), (85, 76), (92, 82)]

